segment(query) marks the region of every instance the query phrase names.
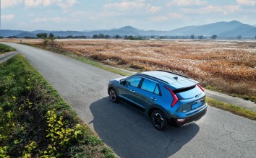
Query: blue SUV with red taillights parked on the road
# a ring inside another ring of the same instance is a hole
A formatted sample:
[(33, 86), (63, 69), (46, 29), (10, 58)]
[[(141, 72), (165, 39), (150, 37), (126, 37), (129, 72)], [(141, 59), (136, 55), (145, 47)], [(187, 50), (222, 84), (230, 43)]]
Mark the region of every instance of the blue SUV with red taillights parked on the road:
[(199, 120), (208, 107), (197, 81), (161, 70), (112, 79), (108, 95), (112, 102), (120, 100), (148, 115), (158, 130)]

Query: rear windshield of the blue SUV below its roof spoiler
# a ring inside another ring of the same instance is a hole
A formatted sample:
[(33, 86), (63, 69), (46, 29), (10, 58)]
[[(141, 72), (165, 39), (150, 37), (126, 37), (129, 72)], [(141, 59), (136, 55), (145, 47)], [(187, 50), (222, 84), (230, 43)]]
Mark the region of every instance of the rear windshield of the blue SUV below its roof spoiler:
[(196, 95), (200, 95), (202, 90), (198, 86), (187, 87), (184, 89), (176, 89), (174, 93), (179, 98), (179, 100), (187, 100), (194, 98)]

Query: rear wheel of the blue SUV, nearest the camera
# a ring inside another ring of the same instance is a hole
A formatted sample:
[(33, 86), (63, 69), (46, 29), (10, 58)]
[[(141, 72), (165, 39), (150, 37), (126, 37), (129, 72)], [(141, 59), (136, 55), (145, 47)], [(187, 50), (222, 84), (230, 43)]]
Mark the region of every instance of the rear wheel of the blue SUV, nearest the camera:
[(154, 110), (150, 119), (156, 129), (163, 131), (166, 128), (167, 119), (161, 110)]

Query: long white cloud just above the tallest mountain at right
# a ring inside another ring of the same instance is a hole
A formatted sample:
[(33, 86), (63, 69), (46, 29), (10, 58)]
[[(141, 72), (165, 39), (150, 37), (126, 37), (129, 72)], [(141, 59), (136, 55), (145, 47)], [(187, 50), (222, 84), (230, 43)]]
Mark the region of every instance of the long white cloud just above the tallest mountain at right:
[(182, 9), (182, 11), (189, 14), (213, 14), (213, 13), (230, 14), (232, 12), (241, 11), (241, 8), (239, 5), (229, 5), (229, 6), (208, 5), (208, 6), (197, 8), (197, 9)]

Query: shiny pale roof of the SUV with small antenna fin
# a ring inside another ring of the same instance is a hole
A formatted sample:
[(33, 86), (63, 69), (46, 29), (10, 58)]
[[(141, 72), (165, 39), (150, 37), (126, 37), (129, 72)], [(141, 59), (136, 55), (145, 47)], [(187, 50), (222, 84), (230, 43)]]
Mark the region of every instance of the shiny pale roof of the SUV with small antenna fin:
[(169, 71), (145, 71), (140, 73), (145, 76), (152, 76), (155, 79), (165, 82), (167, 84), (174, 84), (175, 82), (181, 82), (184, 80), (189, 80), (187, 76), (182, 76), (180, 74), (175, 74)]

